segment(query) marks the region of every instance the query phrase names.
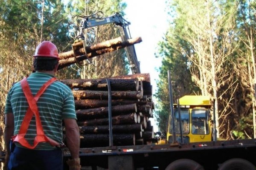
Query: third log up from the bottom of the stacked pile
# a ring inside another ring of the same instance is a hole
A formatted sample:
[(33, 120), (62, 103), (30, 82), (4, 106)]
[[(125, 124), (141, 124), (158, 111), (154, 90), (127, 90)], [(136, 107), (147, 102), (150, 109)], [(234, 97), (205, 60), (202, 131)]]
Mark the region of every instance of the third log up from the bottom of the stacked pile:
[[(112, 117), (112, 125), (124, 125), (137, 123), (137, 114), (131, 113)], [(108, 125), (108, 118), (77, 121), (79, 126)]]

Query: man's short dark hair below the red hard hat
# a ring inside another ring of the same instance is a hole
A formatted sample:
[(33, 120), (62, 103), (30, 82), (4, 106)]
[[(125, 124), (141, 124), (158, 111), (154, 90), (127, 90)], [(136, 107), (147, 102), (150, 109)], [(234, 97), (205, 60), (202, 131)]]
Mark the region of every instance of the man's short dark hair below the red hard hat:
[(33, 60), (35, 71), (52, 71), (58, 64), (58, 59), (38, 59)]

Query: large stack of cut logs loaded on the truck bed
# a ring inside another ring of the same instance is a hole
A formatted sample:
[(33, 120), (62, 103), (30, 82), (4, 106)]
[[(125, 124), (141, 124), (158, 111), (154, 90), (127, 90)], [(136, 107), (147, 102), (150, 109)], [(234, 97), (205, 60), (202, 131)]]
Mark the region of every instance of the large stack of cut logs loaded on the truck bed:
[[(154, 103), (149, 74), (108, 78), (111, 84), (113, 145), (147, 144), (154, 140)], [(109, 145), (108, 85), (105, 79), (65, 79), (75, 98), (81, 147)]]

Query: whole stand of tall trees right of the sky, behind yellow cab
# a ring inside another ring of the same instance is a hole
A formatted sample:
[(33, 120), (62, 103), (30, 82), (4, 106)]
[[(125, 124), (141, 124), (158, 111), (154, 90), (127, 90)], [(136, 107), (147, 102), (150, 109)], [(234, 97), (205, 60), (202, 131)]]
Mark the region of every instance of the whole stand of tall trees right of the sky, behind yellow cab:
[[(172, 20), (156, 53), (163, 58), (155, 94), (160, 130), (166, 132), (167, 71), (170, 70), (174, 101), (185, 94), (201, 94), (202, 91), (213, 95), (216, 91), (221, 136), (226, 139), (232, 138), (230, 134), (236, 138), (252, 136), (253, 88), (250, 83), (254, 82), (249, 73), (253, 73), (254, 64), (248, 65), (248, 59), (253, 62), (250, 56), (254, 52), (250, 49), (255, 46), (256, 3), (173, 0), (166, 4)], [(248, 37), (252, 38), (248, 40)]]

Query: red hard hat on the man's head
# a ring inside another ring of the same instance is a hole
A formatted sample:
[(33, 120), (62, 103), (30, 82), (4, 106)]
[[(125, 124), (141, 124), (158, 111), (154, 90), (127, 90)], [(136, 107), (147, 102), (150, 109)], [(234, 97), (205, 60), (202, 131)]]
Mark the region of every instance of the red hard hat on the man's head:
[(50, 41), (41, 42), (35, 49), (35, 55), (33, 57), (55, 57), (58, 60), (58, 49)]

